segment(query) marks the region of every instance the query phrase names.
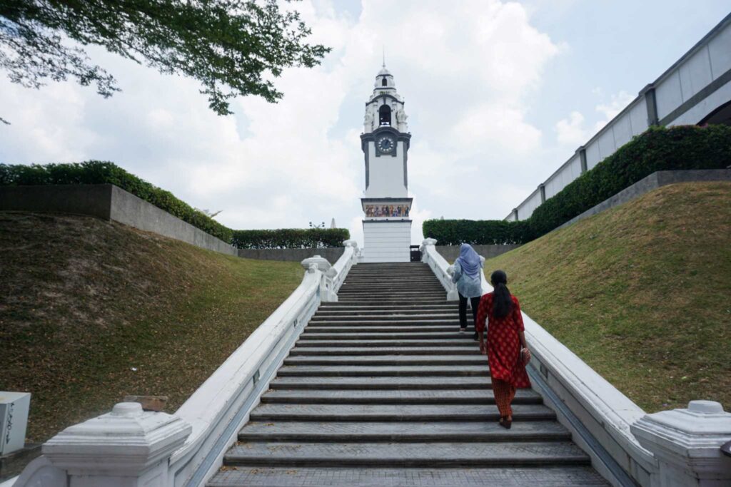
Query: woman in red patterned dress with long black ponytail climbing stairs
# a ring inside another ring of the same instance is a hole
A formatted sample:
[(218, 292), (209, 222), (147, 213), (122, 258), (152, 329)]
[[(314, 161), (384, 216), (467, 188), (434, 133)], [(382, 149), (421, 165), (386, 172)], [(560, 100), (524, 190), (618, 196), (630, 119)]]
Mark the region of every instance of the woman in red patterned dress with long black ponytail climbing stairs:
[[(526, 372), (531, 353), (523, 334), (520, 304), (507, 288), (507, 275), (503, 271), (495, 271), (490, 280), (494, 289), (480, 299), (475, 326), (480, 335), (480, 351), (488, 353), (495, 402), (500, 411), (500, 426), (510, 429), (510, 403), (515, 397), (515, 389), (531, 386)], [(485, 320), (488, 321), (487, 345), (482, 340)]]

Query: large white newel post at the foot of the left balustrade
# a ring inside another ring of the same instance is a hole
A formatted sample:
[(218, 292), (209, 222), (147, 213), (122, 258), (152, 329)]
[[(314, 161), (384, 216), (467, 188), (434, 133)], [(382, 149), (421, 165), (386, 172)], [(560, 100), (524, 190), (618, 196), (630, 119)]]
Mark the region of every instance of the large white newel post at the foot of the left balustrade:
[(120, 402), (111, 413), (69, 426), (43, 445), (68, 487), (167, 487), (170, 456), (191, 426), (175, 415)]

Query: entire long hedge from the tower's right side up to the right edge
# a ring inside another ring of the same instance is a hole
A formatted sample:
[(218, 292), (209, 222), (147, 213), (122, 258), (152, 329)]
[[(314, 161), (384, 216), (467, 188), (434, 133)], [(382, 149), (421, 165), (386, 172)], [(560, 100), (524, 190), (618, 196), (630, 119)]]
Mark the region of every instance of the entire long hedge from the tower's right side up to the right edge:
[(526, 243), (653, 172), (730, 165), (730, 126), (651, 127), (547, 199), (526, 220), (427, 220), (423, 234), (442, 245)]

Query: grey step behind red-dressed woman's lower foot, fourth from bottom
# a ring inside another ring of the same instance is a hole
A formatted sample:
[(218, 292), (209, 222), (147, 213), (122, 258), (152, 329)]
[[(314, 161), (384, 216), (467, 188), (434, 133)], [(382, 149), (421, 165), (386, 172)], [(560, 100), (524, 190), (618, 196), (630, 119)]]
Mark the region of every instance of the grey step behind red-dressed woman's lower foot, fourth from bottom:
[[(541, 404), (515, 404), (513, 421), (554, 421)], [(251, 421), (498, 421), (497, 406), (474, 404), (261, 404)]]

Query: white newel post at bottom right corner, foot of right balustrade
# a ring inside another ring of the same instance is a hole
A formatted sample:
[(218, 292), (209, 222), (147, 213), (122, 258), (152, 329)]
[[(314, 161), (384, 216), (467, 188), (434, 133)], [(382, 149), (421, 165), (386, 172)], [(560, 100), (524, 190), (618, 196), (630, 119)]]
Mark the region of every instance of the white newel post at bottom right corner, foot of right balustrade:
[(731, 458), (720, 450), (731, 440), (731, 413), (719, 402), (691, 401), (687, 409), (648, 414), (630, 429), (658, 461), (653, 485), (731, 485)]

